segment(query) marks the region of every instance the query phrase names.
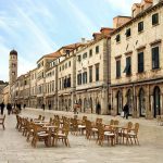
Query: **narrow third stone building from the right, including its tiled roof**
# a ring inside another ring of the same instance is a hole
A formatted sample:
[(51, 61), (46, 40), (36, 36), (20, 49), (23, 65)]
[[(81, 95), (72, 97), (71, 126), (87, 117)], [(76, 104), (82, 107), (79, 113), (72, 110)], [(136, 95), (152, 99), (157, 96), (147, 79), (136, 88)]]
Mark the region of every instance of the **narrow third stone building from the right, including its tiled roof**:
[(62, 59), (58, 60), (58, 108), (73, 111), (76, 90), (76, 55), (86, 43), (73, 43), (64, 47)]

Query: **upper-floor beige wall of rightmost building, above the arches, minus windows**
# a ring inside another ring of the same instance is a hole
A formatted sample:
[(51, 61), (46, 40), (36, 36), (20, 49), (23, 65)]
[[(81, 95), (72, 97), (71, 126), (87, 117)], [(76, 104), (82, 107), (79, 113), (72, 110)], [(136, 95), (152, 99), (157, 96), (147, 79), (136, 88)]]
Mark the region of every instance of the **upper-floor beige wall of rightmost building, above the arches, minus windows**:
[[(151, 16), (154, 13), (159, 13), (159, 25), (152, 26)], [(143, 32), (138, 33), (138, 22), (143, 21)], [(131, 36), (126, 39), (125, 32), (127, 28), (131, 28)], [(113, 35), (111, 38), (111, 84), (123, 84), (123, 83), (130, 83), (130, 82), (137, 82), (145, 78), (154, 78), (160, 77), (163, 74), (163, 55), (161, 54), (163, 52), (162, 43), (160, 43), (160, 70), (152, 71), (152, 55), (151, 55), (151, 42), (163, 39), (163, 8), (151, 12), (150, 14), (146, 15), (145, 17), (138, 18), (136, 22), (133, 22), (127, 27), (123, 28), (120, 33), (121, 35), (121, 42), (116, 42), (115, 37), (116, 35)], [(143, 49), (143, 57), (145, 57), (145, 73), (143, 75), (137, 74), (138, 72), (138, 48), (145, 47)], [(126, 74), (123, 73), (126, 65), (126, 52), (130, 52), (131, 57), (131, 76), (126, 77)], [(121, 55), (121, 73), (122, 77), (120, 79), (116, 79), (116, 57)]]

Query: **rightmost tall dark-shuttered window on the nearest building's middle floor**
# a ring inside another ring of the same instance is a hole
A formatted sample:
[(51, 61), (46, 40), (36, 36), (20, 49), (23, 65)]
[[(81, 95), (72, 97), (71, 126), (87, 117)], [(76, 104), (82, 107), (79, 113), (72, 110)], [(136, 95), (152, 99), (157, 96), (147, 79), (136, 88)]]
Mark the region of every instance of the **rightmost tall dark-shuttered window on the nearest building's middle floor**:
[(159, 47), (152, 48), (152, 70), (159, 68)]

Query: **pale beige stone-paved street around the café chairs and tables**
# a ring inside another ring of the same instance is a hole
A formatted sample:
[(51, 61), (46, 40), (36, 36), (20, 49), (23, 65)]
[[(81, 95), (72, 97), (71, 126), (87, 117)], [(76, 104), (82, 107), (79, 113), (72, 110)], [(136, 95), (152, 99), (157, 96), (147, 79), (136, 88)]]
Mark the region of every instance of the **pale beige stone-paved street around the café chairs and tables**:
[[(23, 115), (37, 117), (45, 114), (49, 120), (54, 111), (41, 111), (26, 109)], [(72, 112), (55, 112), (72, 116)], [(78, 116), (83, 116), (79, 114)], [(97, 115), (87, 114), (93, 121)], [(127, 122), (122, 117), (99, 115), (105, 123), (111, 118), (120, 118), (121, 124)], [(163, 126), (158, 126), (155, 120), (131, 118), (131, 122), (140, 123), (139, 141), (140, 146), (116, 145), (115, 147), (103, 147), (95, 140), (86, 140), (84, 136), (73, 136), (70, 134), (71, 148), (59, 142), (58, 147), (46, 148), (42, 142), (38, 142), (34, 149), (26, 137), (15, 129), (15, 115), (7, 115), (5, 130), (0, 128), (0, 163), (162, 163), (163, 162)], [(0, 126), (1, 127), (1, 126)]]

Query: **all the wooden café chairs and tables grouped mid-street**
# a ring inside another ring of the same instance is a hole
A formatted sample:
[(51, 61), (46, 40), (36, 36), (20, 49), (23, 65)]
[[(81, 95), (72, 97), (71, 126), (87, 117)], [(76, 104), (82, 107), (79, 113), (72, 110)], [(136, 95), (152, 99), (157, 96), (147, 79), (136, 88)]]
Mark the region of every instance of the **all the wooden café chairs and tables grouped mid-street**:
[(87, 116), (82, 120), (68, 118), (66, 116), (54, 115), (50, 117), (46, 126), (36, 124), (35, 122), (43, 122), (45, 117), (39, 115), (38, 118), (29, 120), (26, 117), (17, 117), (16, 128), (27, 137), (27, 141), (32, 139), (32, 146), (36, 147), (37, 141), (45, 141), (46, 146), (57, 146), (58, 140), (62, 140), (65, 146), (70, 147), (68, 133), (72, 135), (85, 135), (86, 139), (90, 140), (92, 137), (97, 139), (97, 143), (103, 146), (103, 141), (108, 140), (111, 146), (116, 143), (139, 145), (138, 130), (139, 124), (128, 122), (124, 127), (120, 126), (117, 120), (111, 120), (109, 124), (103, 124), (102, 118), (97, 118), (96, 122), (90, 122)]

